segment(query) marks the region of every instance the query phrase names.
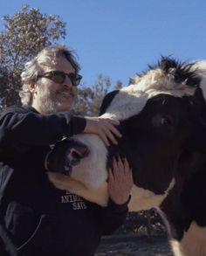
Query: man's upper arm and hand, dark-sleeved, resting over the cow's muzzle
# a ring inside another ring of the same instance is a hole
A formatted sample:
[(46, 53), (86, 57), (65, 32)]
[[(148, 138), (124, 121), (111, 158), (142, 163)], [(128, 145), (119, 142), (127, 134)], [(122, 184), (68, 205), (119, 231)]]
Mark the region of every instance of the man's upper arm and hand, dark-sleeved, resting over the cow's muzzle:
[(118, 121), (89, 118), (62, 112), (38, 114), (24, 107), (9, 107), (0, 114), (0, 146), (16, 143), (48, 145), (79, 133), (99, 135), (106, 145), (116, 142)]

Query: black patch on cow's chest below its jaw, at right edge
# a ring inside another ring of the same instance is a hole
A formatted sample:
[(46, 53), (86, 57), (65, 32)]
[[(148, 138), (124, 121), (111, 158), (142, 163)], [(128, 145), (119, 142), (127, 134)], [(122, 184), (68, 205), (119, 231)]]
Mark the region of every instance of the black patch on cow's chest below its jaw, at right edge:
[(173, 239), (181, 241), (193, 221), (206, 226), (205, 155), (189, 152), (175, 176), (175, 187), (161, 204), (167, 216)]

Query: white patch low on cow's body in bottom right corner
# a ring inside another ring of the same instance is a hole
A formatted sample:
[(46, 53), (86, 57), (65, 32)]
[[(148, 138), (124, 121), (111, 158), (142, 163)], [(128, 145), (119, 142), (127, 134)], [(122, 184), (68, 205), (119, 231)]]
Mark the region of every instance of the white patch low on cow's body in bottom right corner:
[(184, 232), (181, 242), (171, 240), (175, 256), (206, 256), (206, 227), (201, 227), (195, 221)]

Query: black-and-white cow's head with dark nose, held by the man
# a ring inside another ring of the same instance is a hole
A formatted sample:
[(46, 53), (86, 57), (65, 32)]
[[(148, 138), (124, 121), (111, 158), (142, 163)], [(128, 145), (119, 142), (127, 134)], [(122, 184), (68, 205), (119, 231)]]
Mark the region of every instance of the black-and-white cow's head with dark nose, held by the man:
[[(177, 183), (182, 185), (182, 173), (192, 173), (189, 163), (205, 154), (201, 72), (197, 63), (163, 58), (129, 86), (108, 93), (100, 116), (120, 121), (119, 144), (106, 148), (97, 135), (75, 135), (58, 143), (48, 157), (52, 183), (105, 205), (107, 167), (120, 154), (127, 156), (134, 174), (130, 210), (159, 206)], [(57, 157), (61, 164), (53, 162)]]

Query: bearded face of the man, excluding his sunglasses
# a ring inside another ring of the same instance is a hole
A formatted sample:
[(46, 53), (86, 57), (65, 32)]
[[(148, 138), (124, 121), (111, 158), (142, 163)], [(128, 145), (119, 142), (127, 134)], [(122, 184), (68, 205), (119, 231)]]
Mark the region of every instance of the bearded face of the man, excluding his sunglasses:
[[(64, 73), (75, 73), (70, 62), (65, 58), (58, 58), (53, 66), (44, 66), (44, 72), (60, 71)], [(38, 79), (36, 91), (33, 94), (33, 104), (41, 114), (52, 114), (70, 111), (72, 102), (77, 95), (77, 86), (65, 76), (62, 84), (56, 83), (46, 77)]]

